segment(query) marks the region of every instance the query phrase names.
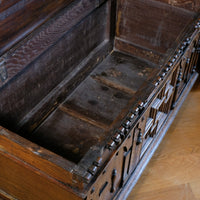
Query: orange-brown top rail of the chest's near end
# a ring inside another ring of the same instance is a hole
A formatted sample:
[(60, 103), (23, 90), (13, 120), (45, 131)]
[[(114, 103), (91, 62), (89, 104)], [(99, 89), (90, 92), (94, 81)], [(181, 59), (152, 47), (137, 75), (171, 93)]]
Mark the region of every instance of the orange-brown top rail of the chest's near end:
[(55, 182), (72, 183), (70, 171), (74, 164), (4, 129), (0, 132), (0, 151), (33, 166)]

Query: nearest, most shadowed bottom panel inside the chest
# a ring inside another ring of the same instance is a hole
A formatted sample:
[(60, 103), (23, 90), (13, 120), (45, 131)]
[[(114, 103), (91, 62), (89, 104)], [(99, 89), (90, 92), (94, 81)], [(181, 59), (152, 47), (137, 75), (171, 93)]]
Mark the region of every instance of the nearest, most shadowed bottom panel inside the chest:
[[(107, 137), (95, 122), (60, 108), (54, 112), (30, 139), (35, 143), (77, 163), (94, 145)], [(94, 120), (93, 120), (94, 121)]]

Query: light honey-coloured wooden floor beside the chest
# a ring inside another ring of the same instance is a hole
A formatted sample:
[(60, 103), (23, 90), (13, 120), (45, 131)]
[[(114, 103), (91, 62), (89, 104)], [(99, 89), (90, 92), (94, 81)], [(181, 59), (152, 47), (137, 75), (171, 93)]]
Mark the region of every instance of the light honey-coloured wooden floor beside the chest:
[(127, 200), (200, 200), (200, 84), (190, 92)]

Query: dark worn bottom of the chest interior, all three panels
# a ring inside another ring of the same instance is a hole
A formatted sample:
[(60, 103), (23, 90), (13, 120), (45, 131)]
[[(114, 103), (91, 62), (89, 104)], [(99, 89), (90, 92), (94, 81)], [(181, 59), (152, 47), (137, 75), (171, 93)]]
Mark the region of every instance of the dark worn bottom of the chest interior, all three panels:
[[(153, 63), (112, 52), (31, 135), (31, 140), (78, 162), (110, 133), (137, 101), (142, 85), (152, 85)], [(104, 146), (104, 145), (102, 145)]]

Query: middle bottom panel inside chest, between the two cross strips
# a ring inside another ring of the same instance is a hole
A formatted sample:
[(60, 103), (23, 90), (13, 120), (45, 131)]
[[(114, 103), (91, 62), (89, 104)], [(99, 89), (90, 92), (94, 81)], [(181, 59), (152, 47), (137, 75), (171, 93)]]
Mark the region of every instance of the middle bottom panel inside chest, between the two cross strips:
[(110, 126), (127, 106), (132, 95), (88, 78), (64, 103), (87, 117)]

